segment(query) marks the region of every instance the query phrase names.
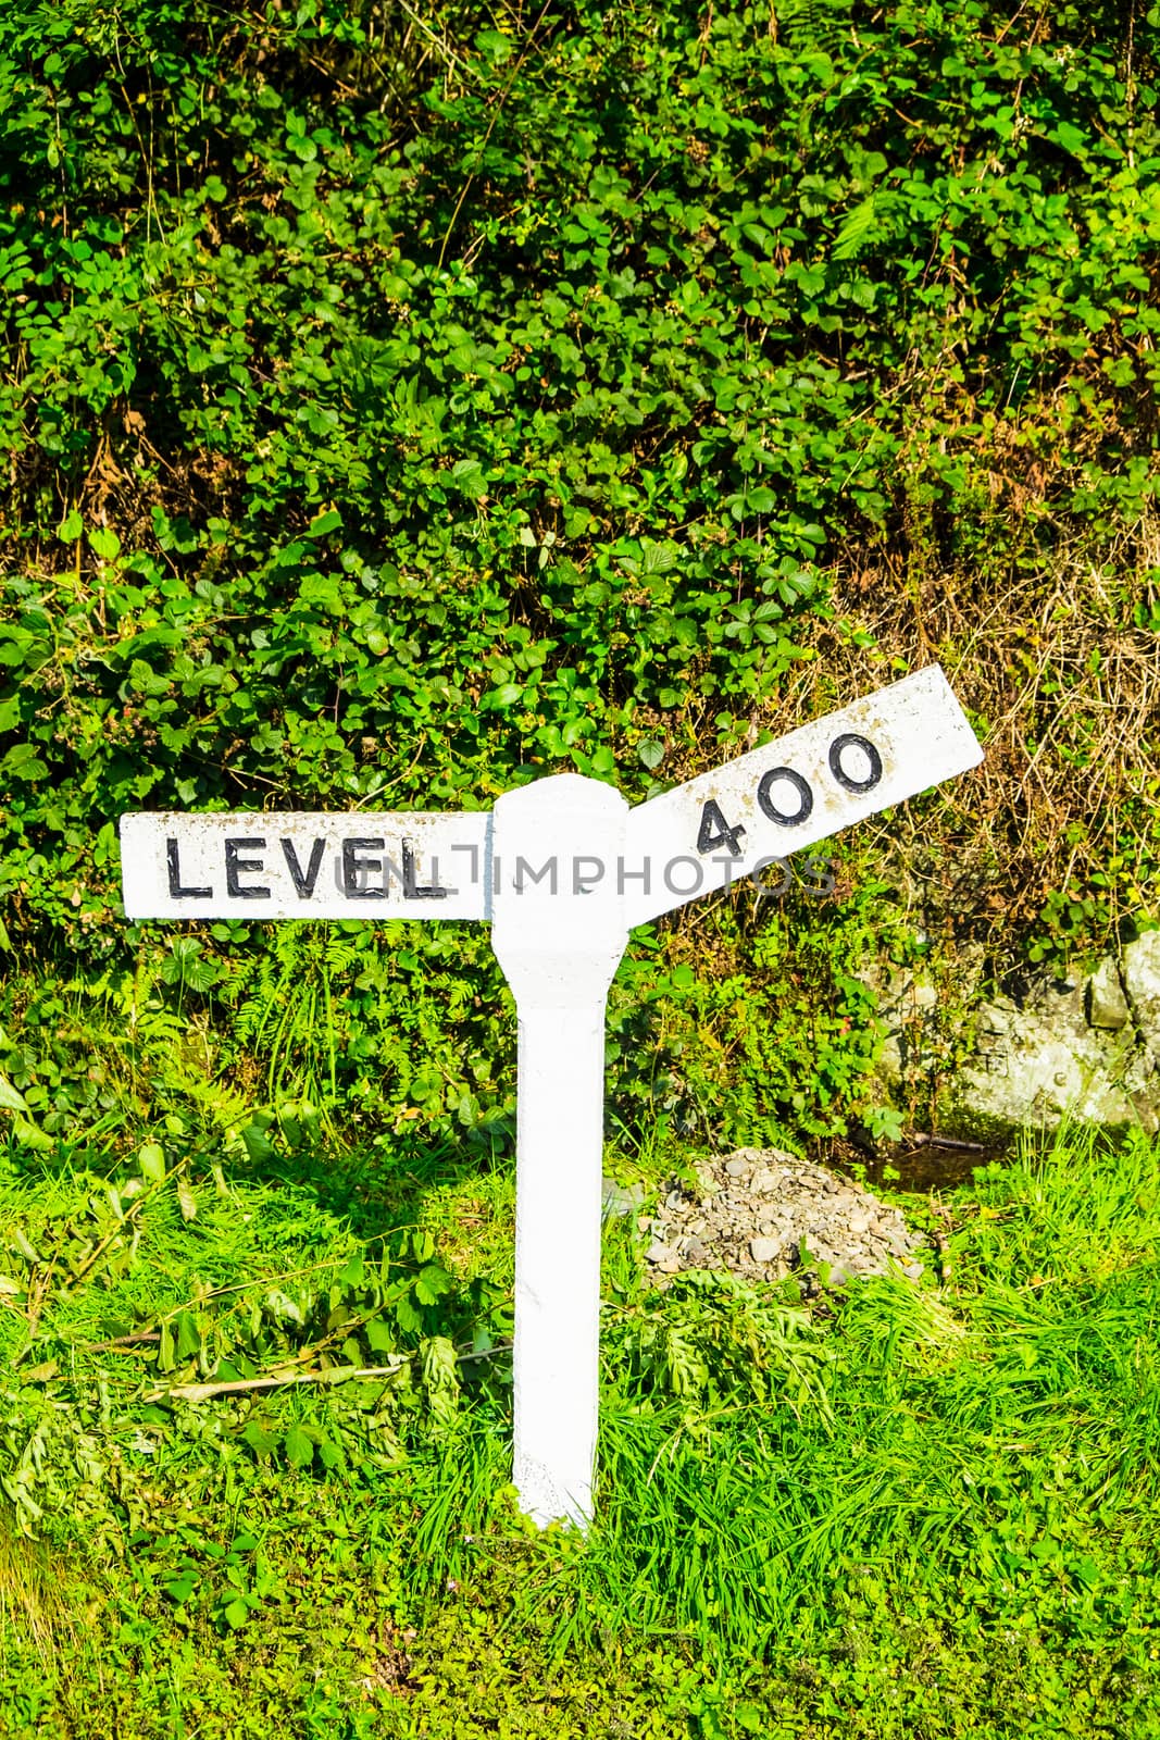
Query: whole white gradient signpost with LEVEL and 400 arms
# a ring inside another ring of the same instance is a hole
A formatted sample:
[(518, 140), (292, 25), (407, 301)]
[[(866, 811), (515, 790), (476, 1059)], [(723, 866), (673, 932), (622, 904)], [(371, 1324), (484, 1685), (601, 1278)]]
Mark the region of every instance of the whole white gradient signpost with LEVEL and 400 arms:
[(934, 665), (637, 809), (557, 774), (490, 813), (122, 816), (130, 919), (490, 920), (520, 1023), (513, 1479), (539, 1524), (593, 1510), (603, 1013), (630, 929), (981, 759)]

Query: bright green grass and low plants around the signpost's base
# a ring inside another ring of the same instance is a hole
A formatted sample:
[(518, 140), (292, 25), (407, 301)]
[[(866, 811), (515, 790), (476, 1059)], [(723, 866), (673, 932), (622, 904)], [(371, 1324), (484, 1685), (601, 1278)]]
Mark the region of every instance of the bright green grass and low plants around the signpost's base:
[[(950, 1202), (943, 1279), (866, 1281), (812, 1322), (723, 1281), (650, 1295), (610, 1225), (588, 1540), (536, 1536), (506, 1488), (504, 1303), (478, 1272), (504, 1263), (501, 1173), (377, 1178), (383, 1223), (423, 1221), (445, 1262), (386, 1241), (421, 1321), (395, 1322), (409, 1369), (376, 1408), (353, 1383), (146, 1401), (209, 1354), (162, 1373), (155, 1342), (94, 1350), (198, 1288), (212, 1350), (277, 1291), (304, 1321), (268, 1322), (247, 1369), (317, 1369), (320, 1302), (369, 1298), (360, 1251), (383, 1274), (348, 1164), (357, 1215), (341, 1169), (327, 1195), (304, 1161), (238, 1159), (181, 1173), (195, 1218), (170, 1171), (123, 1228), (92, 1206), (104, 1181), (14, 1159), (0, 1733), (1160, 1731), (1153, 1145), (1064, 1134), (981, 1171)], [(92, 1263), (106, 1221), (120, 1242)], [(477, 1333), (456, 1397), (430, 1350)]]

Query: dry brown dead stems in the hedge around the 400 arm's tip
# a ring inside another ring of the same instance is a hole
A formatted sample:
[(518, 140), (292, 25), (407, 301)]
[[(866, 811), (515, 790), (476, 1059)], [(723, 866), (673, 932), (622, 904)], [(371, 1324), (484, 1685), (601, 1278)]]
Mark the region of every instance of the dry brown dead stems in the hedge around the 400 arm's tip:
[[(831, 616), (784, 693), (803, 719), (937, 659), (986, 745), (981, 767), (868, 823), (917, 907), (1005, 947), (1049, 922), (1115, 941), (1155, 910), (1160, 520), (1099, 552), (1014, 566), (1002, 586), (889, 557), (833, 572)], [(1080, 917), (1083, 922), (1080, 924)]]

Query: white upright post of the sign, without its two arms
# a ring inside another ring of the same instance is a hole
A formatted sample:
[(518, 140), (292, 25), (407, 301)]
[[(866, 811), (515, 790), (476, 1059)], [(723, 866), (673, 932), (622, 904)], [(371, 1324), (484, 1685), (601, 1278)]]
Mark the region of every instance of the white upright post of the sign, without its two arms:
[(603, 1011), (628, 941), (626, 816), (619, 792), (579, 774), (508, 792), (494, 813), (492, 947), (520, 1021), (513, 1481), (541, 1526), (593, 1512)]

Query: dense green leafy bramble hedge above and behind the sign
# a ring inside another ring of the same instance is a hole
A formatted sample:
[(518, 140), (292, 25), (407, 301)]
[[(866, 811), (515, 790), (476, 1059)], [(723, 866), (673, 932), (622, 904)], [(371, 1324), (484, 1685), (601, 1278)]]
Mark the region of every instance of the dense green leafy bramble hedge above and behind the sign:
[(1002, 595), (1139, 525), (1158, 23), (7, 5), (21, 934), (118, 947), (127, 809), (642, 797), (765, 729), (843, 552)]

